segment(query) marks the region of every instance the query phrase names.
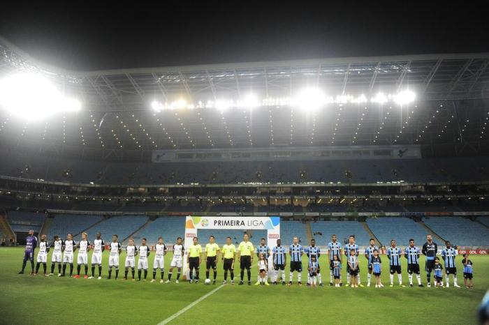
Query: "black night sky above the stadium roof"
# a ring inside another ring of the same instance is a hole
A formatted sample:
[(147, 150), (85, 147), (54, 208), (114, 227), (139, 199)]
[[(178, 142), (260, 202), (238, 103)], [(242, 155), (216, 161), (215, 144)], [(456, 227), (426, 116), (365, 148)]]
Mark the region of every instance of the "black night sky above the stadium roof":
[(476, 1), (465, 7), (448, 1), (160, 2), (2, 3), (0, 34), (36, 59), (73, 70), (489, 52), (489, 10)]

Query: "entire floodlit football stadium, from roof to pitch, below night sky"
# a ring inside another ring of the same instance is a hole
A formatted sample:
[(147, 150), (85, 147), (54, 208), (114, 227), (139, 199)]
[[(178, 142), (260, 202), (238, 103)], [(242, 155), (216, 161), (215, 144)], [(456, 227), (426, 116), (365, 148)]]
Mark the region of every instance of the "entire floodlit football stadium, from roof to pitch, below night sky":
[(488, 66), (70, 70), (0, 37), (0, 324), (477, 324)]

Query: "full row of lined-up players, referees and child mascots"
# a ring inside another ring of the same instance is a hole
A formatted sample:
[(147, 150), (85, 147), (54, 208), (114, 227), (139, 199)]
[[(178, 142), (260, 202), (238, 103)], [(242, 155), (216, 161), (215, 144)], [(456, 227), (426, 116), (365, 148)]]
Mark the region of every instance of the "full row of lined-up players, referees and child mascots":
[[(39, 248), (37, 255), (37, 264), (34, 271), (34, 250)], [(54, 275), (55, 265), (58, 264), (58, 276), (66, 276), (66, 267), (69, 264), (69, 276), (73, 276), (73, 259), (74, 252), (78, 249), (77, 256), (77, 274), (74, 278), (80, 278), (81, 267), (85, 267), (84, 278), (95, 278), (95, 269), (98, 267), (98, 279), (101, 279), (102, 274), (102, 253), (105, 250), (105, 242), (100, 233), (96, 234), (96, 239), (93, 243), (88, 241), (87, 233), (82, 233), (80, 242), (75, 243), (73, 236), (68, 234), (66, 240), (61, 240), (59, 236), (54, 236), (52, 243), (53, 253), (51, 257), (51, 272), (47, 273), (47, 259), (50, 251), (50, 244), (46, 240), (46, 235), (41, 235), (38, 242), (34, 232), (30, 231), (26, 239), (26, 247), (24, 259), (22, 262), (22, 271), (24, 273), (27, 261), (31, 262), (31, 274), (37, 275), (41, 264), (43, 264), (44, 274), (46, 276)], [(92, 254), (92, 275), (88, 274), (88, 252), (93, 250)], [(118, 241), (118, 236), (113, 235), (112, 241), (108, 245), (109, 262), (108, 262), (108, 279), (112, 278), (112, 269), (115, 271), (115, 279), (119, 277), (119, 255), (122, 252), (122, 245)], [(136, 280), (136, 256), (138, 256), (138, 280), (145, 281), (148, 273), (148, 257), (151, 249), (146, 243), (146, 239), (141, 240), (141, 244), (136, 247), (133, 239), (129, 239), (129, 245), (126, 246), (126, 259), (124, 262), (124, 280), (128, 279), (129, 271), (131, 271), (132, 280)], [(205, 259), (205, 283), (210, 284), (210, 270), (213, 271), (212, 283), (215, 284), (217, 278), (217, 263), (219, 259), (223, 262), (224, 282), (227, 283), (228, 273), (230, 273), (231, 284), (234, 284), (234, 266), (236, 259), (240, 261), (240, 285), (244, 284), (245, 271), (247, 271), (248, 285), (251, 285), (251, 264), (253, 263), (254, 255), (258, 258), (257, 269), (258, 279), (256, 285), (270, 285), (268, 277), (270, 275), (272, 283), (277, 285), (277, 282), (282, 282), (286, 285), (285, 266), (287, 255), (290, 258), (290, 272), (288, 285), (293, 282), (293, 274), (297, 273), (298, 285), (302, 285), (302, 255), (308, 257), (307, 262), (307, 285), (316, 287), (323, 286), (321, 279), (321, 267), (319, 266), (319, 257), (321, 256), (321, 248), (316, 245), (314, 239), (307, 247), (302, 247), (297, 237), (293, 237), (293, 243), (289, 246), (289, 254), (286, 248), (282, 246), (281, 240), (277, 239), (277, 245), (270, 249), (266, 244), (265, 239), (261, 239), (260, 245), (254, 248), (254, 245), (249, 241), (249, 236), (245, 234), (243, 241), (238, 245), (238, 248), (231, 241), (231, 237), (226, 238), (226, 244), (221, 248), (215, 243), (214, 236), (210, 236), (209, 243), (202, 246), (198, 243), (198, 238), (194, 237), (193, 243), (189, 247), (184, 248), (182, 238), (178, 237), (175, 245), (173, 245), (173, 259), (170, 263), (168, 279), (164, 281), (164, 256), (166, 255), (166, 245), (163, 243), (163, 238), (158, 239), (158, 243), (154, 246), (155, 257), (153, 263), (153, 278), (152, 282), (156, 281), (156, 273), (160, 270), (160, 282), (170, 282), (173, 269), (177, 269), (175, 282), (178, 283), (182, 273), (184, 264), (184, 255), (187, 255), (187, 268), (189, 269), (189, 282), (198, 283), (200, 280), (200, 262)], [(355, 236), (349, 236), (349, 241), (344, 247), (337, 241), (337, 236), (333, 235), (330, 243), (327, 245), (329, 268), (330, 268), (330, 285), (340, 287), (342, 282), (342, 266), (346, 264), (346, 286), (363, 287), (360, 282), (360, 267), (358, 265), (358, 256), (360, 253), (358, 245), (355, 243)], [(402, 269), (401, 257), (407, 259), (407, 272), (409, 278), (409, 286), (413, 287), (413, 275), (416, 275), (416, 280), (419, 287), (423, 287), (421, 283), (419, 258), (425, 255), (425, 271), (428, 281), (428, 287), (431, 286), (431, 273), (434, 273), (435, 286), (443, 287), (443, 269), (439, 257), (437, 257), (438, 245), (432, 240), (430, 234), (427, 235), (427, 241), (423, 244), (423, 248), (419, 249), (414, 245), (414, 240), (409, 240), (407, 248), (402, 250), (397, 247), (395, 240), (391, 241), (391, 246), (387, 249), (391, 287), (394, 285), (394, 275), (397, 273), (399, 285), (402, 284)], [(445, 266), (445, 281), (446, 287), (449, 287), (449, 275), (453, 275), (454, 287), (460, 287), (457, 283), (457, 267), (455, 257), (458, 255), (457, 250), (451, 247), (449, 241), (446, 242), (446, 247), (441, 250), (441, 257), (444, 259)], [(271, 266), (269, 267), (269, 259), (271, 257)], [(381, 257), (379, 248), (375, 246), (374, 239), (370, 239), (370, 245), (365, 250), (365, 258), (367, 259), (367, 286), (370, 287), (372, 275), (375, 279), (375, 287), (384, 287), (381, 283)], [(345, 262), (343, 260), (345, 259)], [(465, 254), (462, 259), (465, 287), (472, 288), (472, 261)], [(61, 271), (62, 269), (62, 271)], [(281, 281), (280, 281), (281, 280)]]

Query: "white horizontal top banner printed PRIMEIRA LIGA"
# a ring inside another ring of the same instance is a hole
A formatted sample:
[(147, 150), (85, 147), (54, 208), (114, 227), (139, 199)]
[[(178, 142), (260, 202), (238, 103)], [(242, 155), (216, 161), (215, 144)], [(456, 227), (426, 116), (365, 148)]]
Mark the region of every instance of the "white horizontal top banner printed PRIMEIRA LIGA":
[(279, 217), (208, 216), (187, 217), (188, 229), (275, 229), (280, 225)]

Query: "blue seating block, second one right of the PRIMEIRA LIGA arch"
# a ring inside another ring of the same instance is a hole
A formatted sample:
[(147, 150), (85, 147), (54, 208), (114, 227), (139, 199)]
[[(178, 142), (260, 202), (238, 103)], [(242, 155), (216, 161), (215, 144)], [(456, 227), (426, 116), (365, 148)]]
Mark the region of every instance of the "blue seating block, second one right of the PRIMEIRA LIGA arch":
[(370, 240), (363, 225), (357, 221), (316, 221), (309, 222), (309, 224), (312, 236), (319, 245), (327, 245), (333, 234), (336, 234), (338, 241), (342, 244), (352, 234), (355, 235), (356, 243), (360, 246), (368, 245)]

